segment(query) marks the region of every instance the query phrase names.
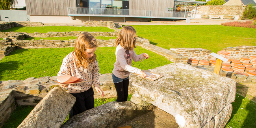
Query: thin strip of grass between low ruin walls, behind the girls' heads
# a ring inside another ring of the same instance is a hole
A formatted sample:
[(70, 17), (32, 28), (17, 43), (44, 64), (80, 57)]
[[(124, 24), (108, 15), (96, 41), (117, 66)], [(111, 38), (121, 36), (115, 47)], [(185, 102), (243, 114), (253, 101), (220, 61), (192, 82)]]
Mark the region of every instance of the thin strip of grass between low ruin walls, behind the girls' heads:
[[(48, 39), (48, 40), (62, 40), (62, 41), (68, 41), (69, 39), (76, 39), (77, 37), (46, 37), (46, 38), (41, 38), (41, 37), (31, 37), (31, 38), (26, 38), (24, 40), (39, 40), (39, 39)], [(96, 39), (103, 39), (103, 40), (109, 40), (109, 39), (116, 39), (117, 37), (103, 37), (103, 36), (95, 36)], [(0, 39), (1, 40), (1, 39)]]

